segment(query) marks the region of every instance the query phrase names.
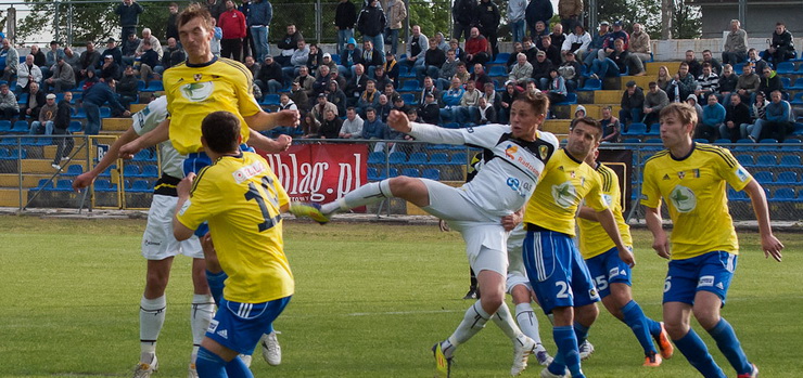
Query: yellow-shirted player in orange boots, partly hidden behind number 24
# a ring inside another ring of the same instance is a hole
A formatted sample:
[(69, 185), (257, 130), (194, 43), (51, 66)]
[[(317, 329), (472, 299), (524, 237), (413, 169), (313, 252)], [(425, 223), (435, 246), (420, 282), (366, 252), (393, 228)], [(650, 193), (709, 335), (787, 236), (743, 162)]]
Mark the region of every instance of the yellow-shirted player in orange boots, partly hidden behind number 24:
[[(619, 177), (613, 169), (597, 162), (598, 155), (599, 151), (594, 148), (586, 156), (585, 161), (599, 173), (602, 180), (602, 199), (613, 211), (622, 239), (627, 248), (633, 250), (630, 226), (622, 217), (622, 191), (619, 185)], [(591, 273), (591, 278), (597, 285), (602, 304), (613, 316), (630, 327), (633, 334), (636, 335), (638, 342), (645, 350), (643, 365), (660, 366), (662, 357), (672, 357), (674, 347), (672, 347), (663, 325), (647, 317), (641, 311), (641, 307), (633, 300), (630, 266), (620, 259), (616, 245), (597, 222), (597, 213), (594, 209), (587, 206), (581, 207), (577, 224), (579, 226), (579, 251), (586, 261), (588, 272)], [(650, 336), (658, 342), (660, 354), (655, 350)]]

